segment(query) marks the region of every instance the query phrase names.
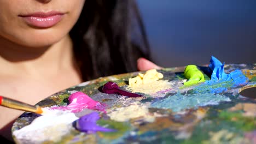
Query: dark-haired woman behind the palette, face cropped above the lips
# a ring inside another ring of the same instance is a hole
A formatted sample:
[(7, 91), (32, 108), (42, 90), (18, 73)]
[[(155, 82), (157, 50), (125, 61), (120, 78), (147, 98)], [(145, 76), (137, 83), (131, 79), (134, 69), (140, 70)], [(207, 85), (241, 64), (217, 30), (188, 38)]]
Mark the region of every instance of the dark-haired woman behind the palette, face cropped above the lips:
[[(139, 58), (149, 58), (149, 45), (134, 1), (0, 1), (0, 12), (5, 97), (36, 104), (100, 76), (159, 68)], [(0, 111), (0, 134), (11, 140), (22, 112)]]

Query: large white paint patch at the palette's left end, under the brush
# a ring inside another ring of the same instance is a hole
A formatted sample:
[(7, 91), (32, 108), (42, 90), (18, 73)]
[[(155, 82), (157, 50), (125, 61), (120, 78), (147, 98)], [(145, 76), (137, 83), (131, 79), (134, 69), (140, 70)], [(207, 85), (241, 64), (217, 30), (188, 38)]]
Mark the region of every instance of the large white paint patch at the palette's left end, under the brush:
[(30, 125), (15, 130), (13, 135), (16, 140), (26, 143), (57, 142), (73, 129), (72, 123), (77, 119), (74, 113), (68, 111), (49, 110), (46, 115), (34, 119)]

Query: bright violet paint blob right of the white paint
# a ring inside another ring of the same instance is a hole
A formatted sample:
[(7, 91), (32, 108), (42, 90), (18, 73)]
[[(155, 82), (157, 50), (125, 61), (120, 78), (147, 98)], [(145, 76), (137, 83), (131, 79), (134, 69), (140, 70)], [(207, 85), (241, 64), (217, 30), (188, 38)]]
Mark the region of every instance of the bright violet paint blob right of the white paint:
[(100, 116), (98, 115), (97, 112), (92, 112), (88, 115), (85, 115), (83, 117), (80, 117), (76, 122), (75, 122), (75, 129), (79, 131), (83, 131), (85, 133), (89, 134), (94, 134), (97, 131), (103, 131), (103, 132), (113, 132), (116, 131), (114, 129), (108, 129), (108, 128), (103, 128), (101, 126), (98, 126), (96, 122), (100, 119)]

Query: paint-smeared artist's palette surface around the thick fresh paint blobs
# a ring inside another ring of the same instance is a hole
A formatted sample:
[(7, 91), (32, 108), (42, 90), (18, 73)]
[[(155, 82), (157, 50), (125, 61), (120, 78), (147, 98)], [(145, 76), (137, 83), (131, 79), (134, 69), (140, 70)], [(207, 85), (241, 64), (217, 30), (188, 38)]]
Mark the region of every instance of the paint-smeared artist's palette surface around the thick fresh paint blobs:
[[(205, 79), (210, 80), (207, 66), (199, 66)], [(163, 79), (147, 86), (131, 88), (129, 78), (138, 72), (100, 77), (55, 93), (40, 101), (42, 107), (67, 105), (68, 97), (74, 92), (83, 92), (92, 99), (106, 105), (98, 125), (115, 131), (94, 134), (83, 133), (68, 127), (68, 133), (45, 143), (253, 143), (256, 137), (256, 99), (244, 97), (243, 89), (256, 87), (256, 64), (226, 64), (225, 72), (241, 70), (247, 77), (242, 85), (232, 81), (198, 83), (184, 86), (184, 67), (158, 70)], [(119, 94), (106, 94), (102, 86), (113, 81), (125, 91), (143, 95), (128, 98)], [(256, 96), (256, 95), (254, 95)], [(77, 113), (80, 117), (93, 110)], [(29, 125), (39, 115), (26, 112), (14, 123), (12, 131)], [(70, 125), (69, 125), (70, 126)], [(36, 133), (36, 132), (35, 132)], [(51, 132), (49, 132), (51, 133)], [(52, 133), (54, 135), (54, 132)], [(29, 143), (30, 138), (17, 143)]]

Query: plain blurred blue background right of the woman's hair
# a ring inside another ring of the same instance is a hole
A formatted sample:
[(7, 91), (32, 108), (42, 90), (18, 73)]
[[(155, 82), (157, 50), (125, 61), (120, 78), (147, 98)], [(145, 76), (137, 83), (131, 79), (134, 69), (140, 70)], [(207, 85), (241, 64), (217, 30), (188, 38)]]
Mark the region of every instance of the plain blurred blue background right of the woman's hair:
[(256, 63), (256, 1), (137, 0), (152, 56), (162, 67)]

